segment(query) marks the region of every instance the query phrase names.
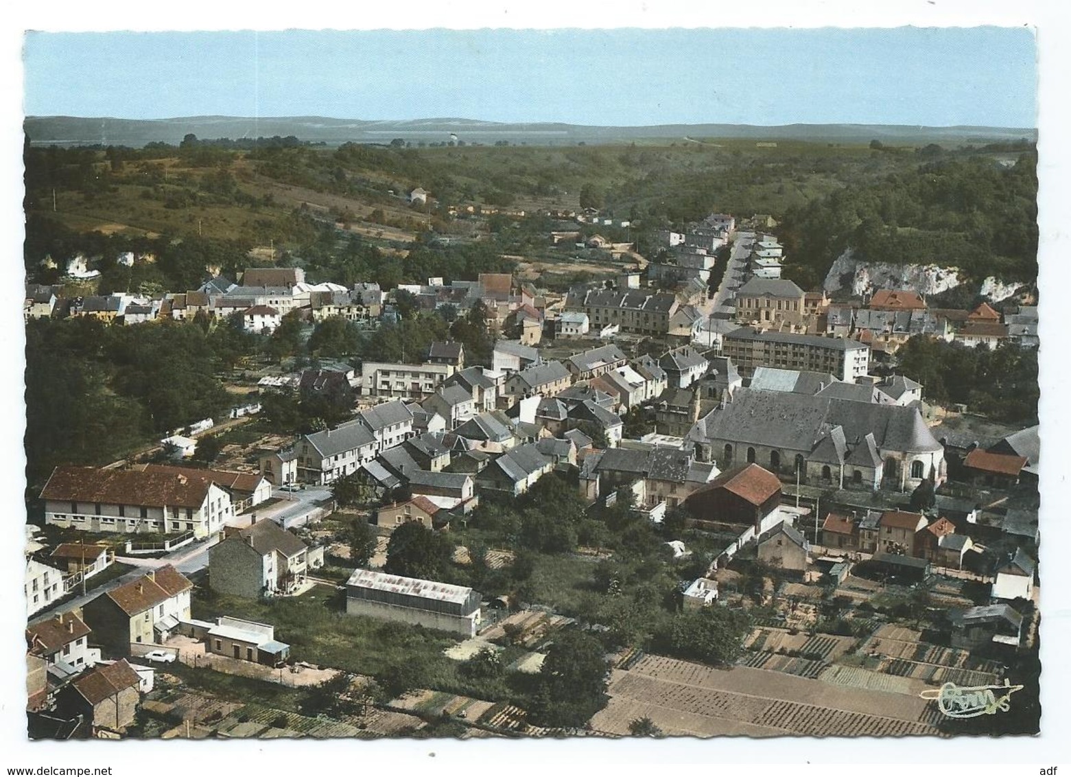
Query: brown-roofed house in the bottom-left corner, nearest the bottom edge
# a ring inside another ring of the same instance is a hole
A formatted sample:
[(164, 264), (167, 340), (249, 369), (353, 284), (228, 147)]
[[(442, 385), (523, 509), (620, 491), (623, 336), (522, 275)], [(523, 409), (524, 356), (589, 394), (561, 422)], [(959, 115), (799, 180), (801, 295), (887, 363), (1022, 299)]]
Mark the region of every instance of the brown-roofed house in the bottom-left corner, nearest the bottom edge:
[(140, 685), (138, 673), (122, 659), (82, 673), (60, 691), (57, 705), (65, 713), (84, 715), (94, 732), (120, 733), (134, 724)]

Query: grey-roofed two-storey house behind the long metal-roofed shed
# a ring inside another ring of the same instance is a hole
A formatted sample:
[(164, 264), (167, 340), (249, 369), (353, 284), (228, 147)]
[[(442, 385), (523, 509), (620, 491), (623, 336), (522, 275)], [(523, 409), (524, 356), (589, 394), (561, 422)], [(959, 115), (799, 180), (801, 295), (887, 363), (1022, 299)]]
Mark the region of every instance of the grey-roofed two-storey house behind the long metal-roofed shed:
[(310, 548), (271, 520), (226, 527), (208, 554), (212, 591), (247, 599), (292, 591), (308, 570), (321, 566), (322, 548)]

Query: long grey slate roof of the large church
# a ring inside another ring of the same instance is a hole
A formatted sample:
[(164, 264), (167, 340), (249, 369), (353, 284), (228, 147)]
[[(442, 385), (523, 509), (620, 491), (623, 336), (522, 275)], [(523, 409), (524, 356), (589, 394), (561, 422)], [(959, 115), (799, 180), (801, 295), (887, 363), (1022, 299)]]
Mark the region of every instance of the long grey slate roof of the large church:
[(810, 452), (824, 430), (836, 425), (844, 428), (849, 444), (873, 433), (874, 442), (883, 449), (941, 449), (915, 407), (751, 389), (737, 390), (724, 407), (715, 407), (700, 418), (688, 439), (724, 439)]

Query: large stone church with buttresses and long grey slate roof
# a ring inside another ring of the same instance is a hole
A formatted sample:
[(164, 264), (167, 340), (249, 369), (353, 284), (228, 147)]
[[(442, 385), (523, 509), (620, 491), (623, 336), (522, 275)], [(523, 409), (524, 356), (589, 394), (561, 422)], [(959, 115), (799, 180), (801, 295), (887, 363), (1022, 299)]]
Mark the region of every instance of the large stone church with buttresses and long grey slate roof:
[(907, 491), (944, 482), (945, 449), (916, 407), (741, 388), (689, 431), (704, 461), (761, 462), (804, 482)]

